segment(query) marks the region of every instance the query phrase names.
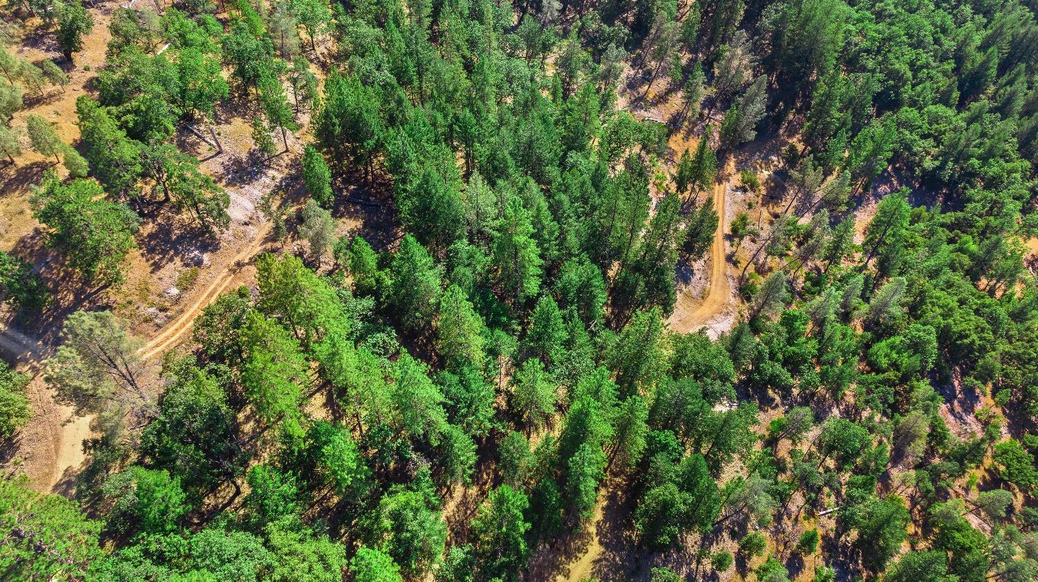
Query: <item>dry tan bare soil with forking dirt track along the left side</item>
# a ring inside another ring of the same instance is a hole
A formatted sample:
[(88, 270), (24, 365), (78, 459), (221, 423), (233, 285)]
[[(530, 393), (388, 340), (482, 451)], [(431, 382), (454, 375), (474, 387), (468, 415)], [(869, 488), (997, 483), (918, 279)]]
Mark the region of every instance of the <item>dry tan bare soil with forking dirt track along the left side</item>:
[[(16, 39), (19, 44), (11, 51), (33, 62), (55, 60), (69, 75), (70, 83), (64, 91), (54, 87), (40, 95), (27, 94), (26, 107), (16, 114), (12, 127), (24, 128), (29, 114), (40, 115), (54, 123), (65, 143), (76, 145), (79, 130), (75, 124), (75, 101), (91, 93), (91, 81), (104, 64), (111, 37), (111, 15), (118, 5), (109, 1), (90, 6), (94, 27), (84, 37), (84, 49), (76, 53), (75, 63), (61, 58), (54, 32), (42, 21), (30, 19), (26, 23), (22, 38)], [(318, 73), (319, 78), (323, 77)], [(91, 418), (75, 416), (72, 408), (56, 401), (40, 376), (40, 364), (51, 355), (51, 347), (57, 344), (64, 317), (77, 309), (112, 309), (128, 322), (134, 335), (151, 337), (140, 355), (154, 359), (188, 337), (194, 317), (221, 293), (236, 284), (254, 285), (254, 268), (250, 264), (267, 250), (268, 243), (274, 243), (270, 240), (272, 222), (260, 211), (265, 195), (273, 193), (283, 200), (288, 220), (292, 220), (292, 211), (303, 196), (296, 171), (311, 112), (304, 109), (297, 116), (303, 130), (288, 136), (286, 151), (266, 157), (253, 150), (249, 120), (255, 114), (254, 107), (244, 95), (234, 94), (218, 106), (215, 122), (192, 128), (209, 137), (212, 126), (222, 153), (185, 127), (173, 139), (179, 148), (199, 158), (202, 171), (229, 195), (230, 227), (214, 238), (171, 211), (160, 210), (144, 217), (137, 237), (140, 250), (128, 257), (127, 281), (115, 288), (83, 288), (76, 283), (74, 274), (63, 269), (60, 257), (44, 245), (29, 204), (30, 186), (38, 183), (47, 169), (66, 175), (64, 168), (31, 151), (25, 136), (24, 153), (16, 157), (15, 164), (0, 167), (0, 249), (13, 250), (31, 260), (56, 292), (54, 304), (43, 316), (20, 318), (19, 314), (0, 312), (0, 322), (6, 322), (0, 323), (0, 351), (33, 377), (28, 394), (34, 413), (2, 462), (28, 474), (37, 489), (71, 495), (73, 477), (85, 460), (82, 441), (90, 436)], [(280, 135), (272, 137), (280, 144)], [(356, 187), (340, 190), (346, 190), (350, 198), (358, 198)], [(367, 192), (359, 198), (372, 196)], [(371, 237), (368, 230), (392, 237), (398, 228), (393, 218), (385, 216), (387, 213), (364, 205), (344, 203), (333, 214), (339, 219), (337, 233), (362, 231), (377, 248), (386, 243), (380, 237)], [(295, 251), (305, 250), (305, 244), (288, 243)], [(270, 249), (282, 246), (270, 245)]]

